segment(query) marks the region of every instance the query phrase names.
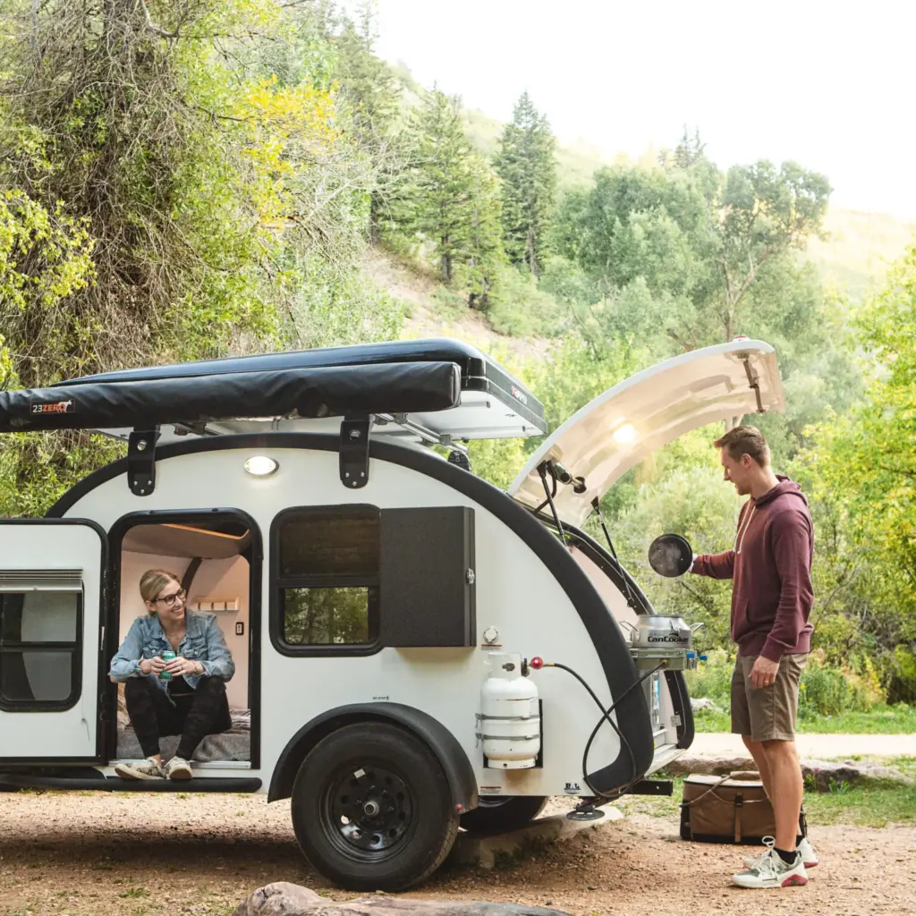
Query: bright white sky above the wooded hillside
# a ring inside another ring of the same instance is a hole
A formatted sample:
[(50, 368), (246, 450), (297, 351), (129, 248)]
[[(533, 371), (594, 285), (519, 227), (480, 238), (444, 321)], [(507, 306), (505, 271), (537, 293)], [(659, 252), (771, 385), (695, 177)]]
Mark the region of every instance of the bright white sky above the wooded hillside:
[[(354, 5), (347, 2), (346, 5)], [(793, 158), (916, 218), (912, 0), (376, 0), (378, 53), (507, 120), (638, 157), (698, 126), (720, 165)]]

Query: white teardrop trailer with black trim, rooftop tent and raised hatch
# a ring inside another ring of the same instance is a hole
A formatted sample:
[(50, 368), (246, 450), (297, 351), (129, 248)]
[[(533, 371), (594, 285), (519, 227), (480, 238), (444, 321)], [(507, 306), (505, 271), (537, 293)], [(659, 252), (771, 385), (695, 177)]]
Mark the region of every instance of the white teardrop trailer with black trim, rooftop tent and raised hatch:
[[(665, 791), (649, 777), (693, 737), (691, 630), (583, 524), (664, 443), (780, 409), (768, 344), (683, 354), (594, 398), (503, 492), (466, 443), (542, 436), (544, 410), (453, 340), (0, 392), (0, 432), (127, 443), (45, 517), (0, 520), (0, 784), (289, 798), (314, 867), (388, 890), (429, 876), (459, 826)], [(234, 726), (178, 783), (114, 774), (142, 754), (108, 666), (153, 566), (235, 662)]]

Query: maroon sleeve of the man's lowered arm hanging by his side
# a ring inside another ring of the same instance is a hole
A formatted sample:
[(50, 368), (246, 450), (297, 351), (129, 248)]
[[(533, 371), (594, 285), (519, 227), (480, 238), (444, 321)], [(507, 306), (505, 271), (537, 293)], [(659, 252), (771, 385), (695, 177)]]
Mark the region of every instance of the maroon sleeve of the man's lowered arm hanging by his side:
[(760, 655), (778, 662), (786, 651), (798, 644), (799, 634), (808, 623), (814, 603), (809, 569), (811, 530), (808, 519), (801, 512), (780, 512), (773, 519), (769, 534), (780, 576), (780, 605)]

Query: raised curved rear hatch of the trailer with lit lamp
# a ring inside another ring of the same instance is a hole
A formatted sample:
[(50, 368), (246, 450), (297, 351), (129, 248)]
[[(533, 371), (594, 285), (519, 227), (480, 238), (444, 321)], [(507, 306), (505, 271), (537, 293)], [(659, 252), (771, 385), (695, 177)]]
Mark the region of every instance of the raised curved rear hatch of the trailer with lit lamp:
[[(562, 521), (579, 527), (595, 498), (667, 442), (718, 420), (783, 409), (769, 344), (737, 338), (693, 350), (630, 376), (574, 413), (531, 456), (508, 492), (526, 506), (540, 506), (539, 467), (552, 463), (568, 475), (568, 483), (558, 481), (553, 504)], [(550, 476), (548, 483), (552, 488)]]

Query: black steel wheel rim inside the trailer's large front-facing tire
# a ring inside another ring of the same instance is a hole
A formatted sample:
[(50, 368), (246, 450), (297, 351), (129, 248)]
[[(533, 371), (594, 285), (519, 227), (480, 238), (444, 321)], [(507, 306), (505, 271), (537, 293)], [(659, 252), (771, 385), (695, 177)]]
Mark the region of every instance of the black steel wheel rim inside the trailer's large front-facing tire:
[(413, 802), (397, 773), (375, 766), (348, 768), (332, 786), (325, 809), (328, 826), (353, 852), (384, 852), (407, 832)]

